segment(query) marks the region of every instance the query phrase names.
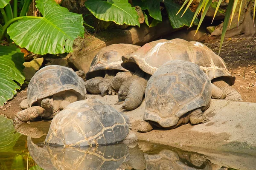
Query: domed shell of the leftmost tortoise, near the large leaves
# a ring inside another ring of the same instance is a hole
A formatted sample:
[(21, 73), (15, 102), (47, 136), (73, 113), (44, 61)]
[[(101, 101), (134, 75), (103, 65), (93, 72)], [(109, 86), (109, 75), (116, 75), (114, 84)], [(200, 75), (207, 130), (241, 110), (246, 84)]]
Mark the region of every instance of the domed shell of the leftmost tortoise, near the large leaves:
[(35, 102), (57, 93), (71, 90), (79, 100), (86, 98), (84, 80), (71, 68), (61, 65), (48, 65), (41, 68), (29, 82), (27, 100), (29, 107)]

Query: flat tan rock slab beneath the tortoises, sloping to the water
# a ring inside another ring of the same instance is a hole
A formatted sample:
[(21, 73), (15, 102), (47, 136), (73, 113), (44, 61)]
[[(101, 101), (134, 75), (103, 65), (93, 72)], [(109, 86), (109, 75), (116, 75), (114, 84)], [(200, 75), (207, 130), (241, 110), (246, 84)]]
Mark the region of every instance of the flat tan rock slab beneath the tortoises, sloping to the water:
[[(145, 101), (134, 111), (124, 111), (117, 96), (88, 95), (102, 99), (116, 110), (130, 117), (133, 130), (143, 119)], [(212, 99), (206, 111), (209, 122), (182, 125), (172, 130), (154, 129), (137, 133), (139, 139), (175, 147), (196, 147), (256, 155), (256, 103)], [(198, 150), (197, 150), (198, 151)]]

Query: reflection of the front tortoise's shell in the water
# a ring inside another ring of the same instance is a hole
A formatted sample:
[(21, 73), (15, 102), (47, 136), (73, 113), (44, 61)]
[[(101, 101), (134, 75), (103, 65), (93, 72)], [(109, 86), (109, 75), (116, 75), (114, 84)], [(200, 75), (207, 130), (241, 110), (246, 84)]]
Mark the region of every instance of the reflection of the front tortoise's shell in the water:
[(32, 159), (44, 170), (116, 170), (129, 159), (125, 144), (98, 147), (51, 147), (35, 144), (28, 136)]

